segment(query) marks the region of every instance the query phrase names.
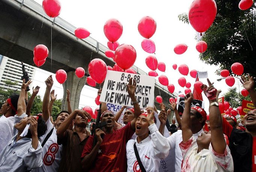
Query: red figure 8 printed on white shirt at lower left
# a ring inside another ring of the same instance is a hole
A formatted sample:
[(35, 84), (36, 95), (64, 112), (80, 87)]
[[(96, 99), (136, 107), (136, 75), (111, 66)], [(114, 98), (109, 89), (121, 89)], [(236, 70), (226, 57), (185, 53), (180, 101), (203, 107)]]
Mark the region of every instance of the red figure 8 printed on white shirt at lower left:
[(50, 147), (48, 148), (47, 153), (45, 153), (44, 155), (44, 165), (46, 166), (51, 166), (55, 160), (55, 154), (58, 152), (59, 150), (59, 145), (57, 143), (53, 143), (50, 145)]

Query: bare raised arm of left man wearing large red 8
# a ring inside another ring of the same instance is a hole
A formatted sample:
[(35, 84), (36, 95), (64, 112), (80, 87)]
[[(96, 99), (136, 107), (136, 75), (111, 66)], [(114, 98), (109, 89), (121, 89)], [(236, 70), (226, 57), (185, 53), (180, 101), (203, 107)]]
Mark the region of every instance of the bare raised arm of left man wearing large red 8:
[(53, 86), (53, 77), (50, 75), (46, 80), (46, 90), (44, 93), (44, 99), (42, 103), (42, 117), (45, 120), (45, 122), (50, 118), (50, 111), (49, 111), (49, 98), (50, 98), (50, 92), (51, 87)]

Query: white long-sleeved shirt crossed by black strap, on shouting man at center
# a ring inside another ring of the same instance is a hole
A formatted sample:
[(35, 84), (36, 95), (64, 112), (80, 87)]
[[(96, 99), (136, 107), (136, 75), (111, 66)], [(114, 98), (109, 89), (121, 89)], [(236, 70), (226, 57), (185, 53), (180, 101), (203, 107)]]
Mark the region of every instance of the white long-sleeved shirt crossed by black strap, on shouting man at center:
[(148, 136), (141, 142), (131, 139), (126, 144), (127, 171), (133, 172), (140, 169), (134, 153), (134, 142), (140, 156), (140, 160), (147, 172), (158, 172), (160, 159), (168, 156), (170, 146), (167, 138), (161, 135), (155, 124), (149, 126), (151, 136)]

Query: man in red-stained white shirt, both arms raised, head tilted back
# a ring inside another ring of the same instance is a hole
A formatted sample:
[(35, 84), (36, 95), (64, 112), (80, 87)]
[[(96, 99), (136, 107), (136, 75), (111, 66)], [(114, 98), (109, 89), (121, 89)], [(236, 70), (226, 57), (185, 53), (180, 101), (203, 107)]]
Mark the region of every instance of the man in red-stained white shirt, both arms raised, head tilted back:
[[(217, 90), (209, 80), (208, 83), (209, 87), (203, 85), (203, 90), (205, 95), (211, 92), (213, 97), (209, 96), (208, 98), (211, 132), (205, 131), (197, 139), (193, 137), (191, 130), (193, 124), (190, 120), (193, 94), (188, 93), (185, 96), (185, 108), (181, 120), (182, 142), (179, 144), (184, 161), (182, 171), (232, 172), (234, 170), (233, 161), (221, 128), (222, 117), (216, 99)], [(200, 107), (197, 107), (197, 110), (203, 111)]]

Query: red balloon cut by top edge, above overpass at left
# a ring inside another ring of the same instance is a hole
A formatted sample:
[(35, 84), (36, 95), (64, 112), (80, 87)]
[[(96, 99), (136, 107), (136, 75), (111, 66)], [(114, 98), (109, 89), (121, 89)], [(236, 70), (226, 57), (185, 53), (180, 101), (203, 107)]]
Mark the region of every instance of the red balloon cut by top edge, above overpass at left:
[(59, 0), (43, 0), (44, 12), (49, 17), (57, 17), (60, 15), (61, 4)]

